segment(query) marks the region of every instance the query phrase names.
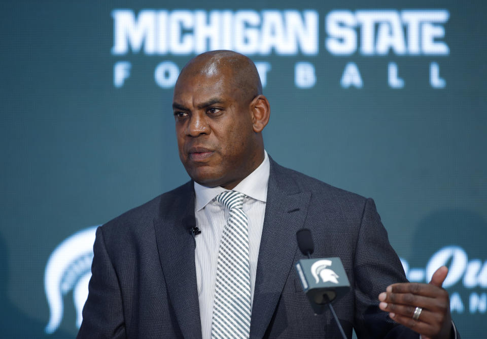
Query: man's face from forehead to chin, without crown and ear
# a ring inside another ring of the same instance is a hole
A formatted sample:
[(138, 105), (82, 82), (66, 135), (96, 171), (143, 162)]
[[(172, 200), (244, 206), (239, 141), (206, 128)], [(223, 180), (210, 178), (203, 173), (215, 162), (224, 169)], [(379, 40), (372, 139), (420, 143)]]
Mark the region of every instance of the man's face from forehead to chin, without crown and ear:
[(182, 74), (173, 97), (179, 156), (186, 171), (202, 185), (226, 189), (233, 189), (262, 161), (252, 98), (243, 98), (231, 75), (225, 70), (209, 76)]

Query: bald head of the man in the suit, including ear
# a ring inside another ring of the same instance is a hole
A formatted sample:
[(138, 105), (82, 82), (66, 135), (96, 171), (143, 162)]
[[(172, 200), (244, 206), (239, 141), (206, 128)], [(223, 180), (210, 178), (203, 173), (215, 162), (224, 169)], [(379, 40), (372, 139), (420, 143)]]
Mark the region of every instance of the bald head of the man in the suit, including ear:
[(205, 186), (233, 189), (264, 159), (269, 102), (254, 63), (232, 51), (190, 60), (174, 89), (179, 156)]

